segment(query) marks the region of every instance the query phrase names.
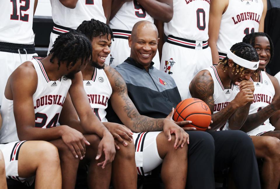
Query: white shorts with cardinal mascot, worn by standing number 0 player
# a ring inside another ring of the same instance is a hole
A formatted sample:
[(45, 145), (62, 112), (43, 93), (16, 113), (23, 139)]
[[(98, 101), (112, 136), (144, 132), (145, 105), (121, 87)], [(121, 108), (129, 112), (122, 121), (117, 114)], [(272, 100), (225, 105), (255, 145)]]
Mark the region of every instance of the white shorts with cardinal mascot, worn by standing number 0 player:
[(211, 65), (210, 47), (191, 49), (169, 42), (163, 45), (160, 70), (175, 80), (182, 100), (189, 97), (189, 85), (195, 74)]

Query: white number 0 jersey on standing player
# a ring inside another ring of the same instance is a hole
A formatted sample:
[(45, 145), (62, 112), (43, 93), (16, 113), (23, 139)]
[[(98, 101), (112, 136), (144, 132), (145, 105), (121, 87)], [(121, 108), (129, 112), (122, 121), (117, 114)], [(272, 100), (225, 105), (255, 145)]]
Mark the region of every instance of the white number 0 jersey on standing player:
[(172, 20), (164, 23), (166, 36), (195, 41), (208, 40), (210, 0), (174, 0), (173, 8)]

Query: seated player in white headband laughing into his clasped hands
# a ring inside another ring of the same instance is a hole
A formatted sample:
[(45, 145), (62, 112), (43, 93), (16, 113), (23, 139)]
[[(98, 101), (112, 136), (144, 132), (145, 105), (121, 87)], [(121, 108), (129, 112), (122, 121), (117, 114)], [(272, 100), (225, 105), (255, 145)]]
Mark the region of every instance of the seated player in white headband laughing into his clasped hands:
[[(241, 42), (231, 47), (227, 57), (221, 60), (219, 65), (198, 72), (192, 79), (190, 93), (192, 97), (202, 99), (208, 104), (212, 113), (213, 130), (239, 130), (244, 124), (254, 100), (254, 85), (250, 77), (256, 73), (258, 64), (259, 58), (255, 49)], [(216, 131), (219, 132), (225, 131)], [(275, 150), (277, 143), (272, 139), (259, 138), (259, 143), (253, 139), (256, 156), (265, 160), (262, 170), (265, 188), (275, 188), (275, 184), (279, 183), (279, 176), (275, 173), (279, 172), (277, 165), (280, 154), (279, 150)], [(260, 151), (259, 145), (265, 145), (265, 151)], [(245, 166), (247, 165), (244, 164)], [(238, 176), (234, 171), (232, 174), (233, 178)], [(240, 188), (242, 183), (235, 184)]]

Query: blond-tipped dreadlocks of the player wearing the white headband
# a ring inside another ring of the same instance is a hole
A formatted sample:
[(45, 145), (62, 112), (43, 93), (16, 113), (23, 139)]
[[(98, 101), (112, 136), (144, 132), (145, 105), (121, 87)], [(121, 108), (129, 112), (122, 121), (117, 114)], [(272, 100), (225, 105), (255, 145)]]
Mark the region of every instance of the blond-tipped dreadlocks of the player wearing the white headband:
[[(250, 44), (247, 44), (244, 42), (236, 43), (230, 48), (230, 51), (233, 54), (235, 54), (245, 60), (253, 61), (253, 62), (259, 61), (259, 56), (258, 56), (257, 51)], [(224, 72), (225, 72), (227, 70), (227, 68), (229, 67), (227, 56), (225, 58), (223, 58), (222, 60), (220, 60), (219, 64), (223, 65), (222, 69), (224, 69)], [(240, 73), (240, 75), (242, 76), (245, 73), (245, 70), (247, 70), (247, 68), (234, 63), (233, 68), (232, 68), (232, 74), (234, 74), (234, 71), (236, 71), (235, 75), (237, 73)], [(254, 75), (257, 76), (257, 70), (254, 72)]]

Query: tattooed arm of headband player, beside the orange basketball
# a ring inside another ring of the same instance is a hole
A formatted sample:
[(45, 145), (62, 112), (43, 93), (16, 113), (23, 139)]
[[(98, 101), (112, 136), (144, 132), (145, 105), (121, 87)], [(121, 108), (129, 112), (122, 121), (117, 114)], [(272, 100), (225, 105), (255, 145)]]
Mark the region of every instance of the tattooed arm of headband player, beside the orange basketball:
[(217, 130), (223, 126), (237, 108), (234, 106), (234, 103), (230, 103), (219, 112), (213, 114), (214, 82), (211, 74), (207, 70), (202, 70), (196, 74), (190, 83), (189, 89), (192, 97), (203, 100), (209, 106), (213, 121), (213, 124), (211, 124), (211, 130)]

